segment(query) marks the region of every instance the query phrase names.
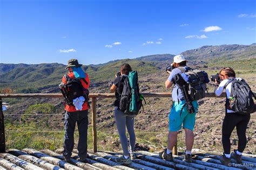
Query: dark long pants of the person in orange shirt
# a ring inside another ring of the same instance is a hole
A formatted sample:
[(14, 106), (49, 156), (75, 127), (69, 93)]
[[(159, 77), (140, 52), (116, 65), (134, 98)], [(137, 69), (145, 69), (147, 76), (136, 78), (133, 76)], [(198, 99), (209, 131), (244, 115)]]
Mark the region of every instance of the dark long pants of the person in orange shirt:
[(65, 157), (71, 157), (74, 147), (74, 131), (78, 126), (78, 156), (80, 159), (86, 158), (87, 155), (87, 129), (88, 129), (88, 110), (68, 112), (65, 114), (65, 133), (64, 133), (64, 151)]

